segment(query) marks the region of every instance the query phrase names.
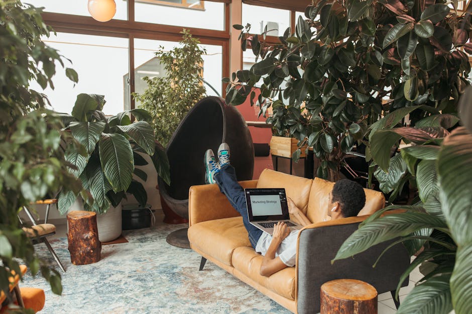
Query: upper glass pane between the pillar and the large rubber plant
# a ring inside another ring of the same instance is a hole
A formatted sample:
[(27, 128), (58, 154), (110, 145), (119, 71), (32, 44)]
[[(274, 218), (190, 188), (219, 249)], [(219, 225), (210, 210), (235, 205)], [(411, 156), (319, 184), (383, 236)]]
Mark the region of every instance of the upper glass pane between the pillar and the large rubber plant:
[(290, 27), (290, 11), (243, 4), (243, 25), (251, 24), (251, 34), (261, 34), (267, 26), (267, 35), (282, 36)]

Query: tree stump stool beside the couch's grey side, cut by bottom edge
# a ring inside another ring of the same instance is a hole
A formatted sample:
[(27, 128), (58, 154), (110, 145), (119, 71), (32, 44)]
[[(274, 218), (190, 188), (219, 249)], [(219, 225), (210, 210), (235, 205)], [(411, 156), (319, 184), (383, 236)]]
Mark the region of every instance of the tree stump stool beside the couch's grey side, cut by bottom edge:
[(377, 290), (367, 282), (337, 279), (323, 283), (320, 314), (377, 314)]

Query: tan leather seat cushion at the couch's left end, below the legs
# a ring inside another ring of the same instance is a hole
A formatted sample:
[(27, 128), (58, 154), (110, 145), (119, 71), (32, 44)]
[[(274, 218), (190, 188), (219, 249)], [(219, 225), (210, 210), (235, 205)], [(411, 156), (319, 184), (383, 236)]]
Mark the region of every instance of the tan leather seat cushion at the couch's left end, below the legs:
[(235, 248), (251, 247), (241, 216), (196, 223), (188, 228), (188, 239), (192, 246), (228, 266), (232, 266), (231, 255)]

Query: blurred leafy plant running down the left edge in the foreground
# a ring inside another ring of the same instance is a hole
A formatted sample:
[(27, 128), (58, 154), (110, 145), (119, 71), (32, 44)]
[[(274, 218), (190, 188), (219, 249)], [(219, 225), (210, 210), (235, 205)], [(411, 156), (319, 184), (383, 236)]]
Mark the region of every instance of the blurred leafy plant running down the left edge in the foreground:
[[(40, 9), (0, 0), (0, 291), (8, 298), (10, 270), (21, 276), (20, 263), (33, 275), (41, 272), (52, 292), (61, 294), (60, 274), (36, 255), (18, 213), (61, 186), (80, 189), (60, 149), (61, 136), (68, 137), (61, 119), (42, 109), (47, 97), (30, 88), (32, 80), (54, 88), (56, 65), (66, 61), (41, 41), (50, 32)], [(65, 73), (77, 82), (74, 70), (66, 68)]]

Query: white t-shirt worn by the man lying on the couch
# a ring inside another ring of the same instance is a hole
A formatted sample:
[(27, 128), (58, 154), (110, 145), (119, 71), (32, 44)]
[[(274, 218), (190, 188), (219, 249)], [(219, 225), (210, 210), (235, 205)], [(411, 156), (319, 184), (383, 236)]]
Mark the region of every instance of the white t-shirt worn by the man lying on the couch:
[[(280, 243), (275, 257), (279, 256), (282, 262), (289, 266), (295, 266), (295, 259), (297, 257), (297, 234), (300, 230), (293, 230), (290, 234), (282, 240)], [(272, 235), (263, 232), (259, 241), (257, 241), (256, 252), (266, 255), (267, 249), (272, 241)]]

